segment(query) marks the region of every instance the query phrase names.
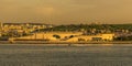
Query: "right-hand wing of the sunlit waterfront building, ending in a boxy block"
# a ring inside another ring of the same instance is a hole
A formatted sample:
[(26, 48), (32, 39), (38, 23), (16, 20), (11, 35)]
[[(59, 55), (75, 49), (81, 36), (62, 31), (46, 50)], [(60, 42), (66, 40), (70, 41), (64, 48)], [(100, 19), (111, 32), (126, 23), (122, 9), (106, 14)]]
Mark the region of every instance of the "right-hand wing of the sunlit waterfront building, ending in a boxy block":
[(67, 42), (89, 42), (89, 41), (113, 41), (114, 34), (97, 34), (97, 35), (80, 35), (77, 37), (73, 37), (70, 40), (67, 40)]

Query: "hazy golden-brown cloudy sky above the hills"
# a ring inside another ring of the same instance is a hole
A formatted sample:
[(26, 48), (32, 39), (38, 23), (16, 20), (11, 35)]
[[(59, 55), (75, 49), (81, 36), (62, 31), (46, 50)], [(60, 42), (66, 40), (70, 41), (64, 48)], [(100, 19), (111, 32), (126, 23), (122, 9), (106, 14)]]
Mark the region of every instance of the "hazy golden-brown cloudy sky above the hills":
[(0, 22), (132, 23), (132, 0), (0, 0)]

